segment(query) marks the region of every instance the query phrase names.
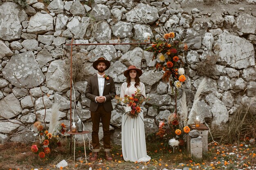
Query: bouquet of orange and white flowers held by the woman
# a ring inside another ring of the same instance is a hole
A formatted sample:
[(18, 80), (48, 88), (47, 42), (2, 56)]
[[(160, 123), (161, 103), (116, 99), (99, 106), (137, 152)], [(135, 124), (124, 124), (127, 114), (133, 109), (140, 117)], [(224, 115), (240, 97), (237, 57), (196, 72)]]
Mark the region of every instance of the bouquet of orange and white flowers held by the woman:
[(141, 91), (137, 89), (132, 96), (124, 95), (124, 98), (116, 97), (118, 102), (126, 104), (125, 114), (128, 114), (131, 118), (137, 118), (141, 112), (141, 106), (146, 102), (148, 98), (141, 94)]

